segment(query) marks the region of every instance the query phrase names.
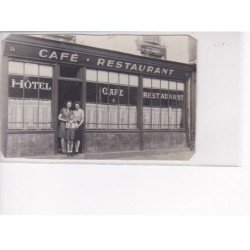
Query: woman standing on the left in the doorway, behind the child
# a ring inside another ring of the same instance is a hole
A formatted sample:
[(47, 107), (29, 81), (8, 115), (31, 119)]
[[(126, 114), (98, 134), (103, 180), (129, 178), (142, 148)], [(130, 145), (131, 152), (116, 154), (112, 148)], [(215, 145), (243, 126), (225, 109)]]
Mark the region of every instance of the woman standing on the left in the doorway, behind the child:
[(62, 154), (66, 154), (66, 122), (69, 120), (69, 116), (73, 114), (72, 101), (66, 102), (66, 107), (60, 110), (58, 115), (59, 125), (59, 138), (61, 138)]

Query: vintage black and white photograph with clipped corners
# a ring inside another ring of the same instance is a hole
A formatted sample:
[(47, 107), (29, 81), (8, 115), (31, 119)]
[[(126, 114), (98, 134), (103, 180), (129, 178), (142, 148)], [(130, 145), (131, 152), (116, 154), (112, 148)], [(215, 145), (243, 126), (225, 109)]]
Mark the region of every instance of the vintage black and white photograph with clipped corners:
[(196, 46), (185, 34), (5, 34), (3, 155), (190, 159)]

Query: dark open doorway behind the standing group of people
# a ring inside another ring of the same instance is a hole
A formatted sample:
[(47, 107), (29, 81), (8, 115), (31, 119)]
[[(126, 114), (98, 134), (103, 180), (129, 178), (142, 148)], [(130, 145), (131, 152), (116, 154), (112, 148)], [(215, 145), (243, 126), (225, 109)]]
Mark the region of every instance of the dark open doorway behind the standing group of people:
[[(74, 102), (79, 101), (82, 107), (82, 82), (59, 80), (58, 82), (58, 112), (66, 107), (67, 101), (72, 101), (72, 108), (74, 108)], [(58, 113), (59, 114), (59, 113)], [(59, 123), (58, 123), (59, 126)], [(83, 130), (83, 126), (80, 127)], [(59, 129), (59, 128), (58, 128)], [(83, 139), (82, 139), (83, 140)], [(58, 138), (58, 152), (62, 152), (61, 142)], [(83, 153), (83, 142), (81, 141), (79, 153)]]

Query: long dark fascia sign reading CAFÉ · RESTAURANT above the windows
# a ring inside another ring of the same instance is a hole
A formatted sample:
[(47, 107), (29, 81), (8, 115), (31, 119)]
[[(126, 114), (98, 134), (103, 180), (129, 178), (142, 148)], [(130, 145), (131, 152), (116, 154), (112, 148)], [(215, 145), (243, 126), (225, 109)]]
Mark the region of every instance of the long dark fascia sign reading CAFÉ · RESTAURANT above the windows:
[(150, 64), (133, 60), (124, 60), (122, 58), (117, 59), (107, 56), (90, 55), (84, 52), (41, 48), (35, 45), (19, 44), (9, 41), (6, 42), (5, 55), (50, 62), (80, 64), (90, 68), (124, 71), (131, 74), (146, 74), (180, 80), (187, 80), (190, 75), (190, 71), (173, 68), (168, 66), (168, 64), (163, 66), (163, 64)]

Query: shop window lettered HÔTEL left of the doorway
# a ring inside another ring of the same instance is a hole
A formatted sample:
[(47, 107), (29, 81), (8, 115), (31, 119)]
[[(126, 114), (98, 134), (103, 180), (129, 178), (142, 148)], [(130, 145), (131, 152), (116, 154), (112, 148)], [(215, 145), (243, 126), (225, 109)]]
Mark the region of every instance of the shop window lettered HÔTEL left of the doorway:
[(8, 129), (52, 128), (52, 66), (9, 61)]

